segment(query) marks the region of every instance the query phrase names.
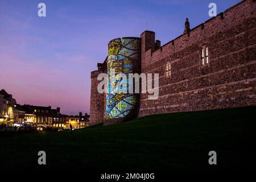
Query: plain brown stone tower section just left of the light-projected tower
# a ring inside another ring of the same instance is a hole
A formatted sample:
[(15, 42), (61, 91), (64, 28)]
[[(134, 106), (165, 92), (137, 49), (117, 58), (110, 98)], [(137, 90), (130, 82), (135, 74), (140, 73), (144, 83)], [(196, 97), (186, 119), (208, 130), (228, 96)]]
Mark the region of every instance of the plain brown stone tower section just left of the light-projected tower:
[(93, 71), (90, 75), (90, 125), (104, 121), (105, 95), (97, 91), (98, 83), (101, 82), (97, 80), (97, 76), (100, 73), (102, 73), (102, 71)]

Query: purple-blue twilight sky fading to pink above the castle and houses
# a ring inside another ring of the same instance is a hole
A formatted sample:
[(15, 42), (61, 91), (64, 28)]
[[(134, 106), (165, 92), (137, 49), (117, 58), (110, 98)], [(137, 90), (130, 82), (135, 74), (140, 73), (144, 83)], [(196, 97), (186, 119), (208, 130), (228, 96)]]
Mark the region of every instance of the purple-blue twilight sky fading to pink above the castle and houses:
[[(46, 3), (46, 17), (38, 3)], [(238, 0), (13, 1), (0, 0), (0, 89), (18, 104), (60, 106), (89, 113), (90, 72), (104, 61), (114, 38), (156, 32), (162, 45)]]

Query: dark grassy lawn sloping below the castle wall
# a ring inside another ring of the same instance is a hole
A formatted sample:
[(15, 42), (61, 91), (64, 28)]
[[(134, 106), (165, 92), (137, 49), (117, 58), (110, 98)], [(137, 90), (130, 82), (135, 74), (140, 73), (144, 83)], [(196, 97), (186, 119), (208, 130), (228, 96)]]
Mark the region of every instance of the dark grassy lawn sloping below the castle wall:
[[(256, 107), (159, 114), (111, 126), (0, 135), (1, 169), (255, 169)], [(47, 165), (39, 166), (38, 151)], [(217, 165), (208, 152), (217, 152)]]

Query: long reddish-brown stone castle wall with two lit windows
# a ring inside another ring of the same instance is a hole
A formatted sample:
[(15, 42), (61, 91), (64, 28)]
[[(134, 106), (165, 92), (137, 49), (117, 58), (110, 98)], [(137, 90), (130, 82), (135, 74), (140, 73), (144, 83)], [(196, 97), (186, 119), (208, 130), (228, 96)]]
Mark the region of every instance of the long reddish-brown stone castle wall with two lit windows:
[[(142, 73), (159, 73), (159, 97), (141, 94), (144, 115), (256, 105), (256, 2), (242, 1), (155, 51), (155, 33), (142, 38)], [(201, 65), (207, 46), (209, 64)], [(166, 63), (171, 76), (166, 77)]]

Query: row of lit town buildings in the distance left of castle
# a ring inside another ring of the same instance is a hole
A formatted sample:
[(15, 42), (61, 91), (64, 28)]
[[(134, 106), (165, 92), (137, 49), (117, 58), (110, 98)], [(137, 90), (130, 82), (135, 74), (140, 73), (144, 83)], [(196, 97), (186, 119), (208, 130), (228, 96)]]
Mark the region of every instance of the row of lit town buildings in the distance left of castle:
[(51, 127), (80, 129), (89, 126), (89, 115), (82, 112), (79, 115), (60, 113), (60, 107), (19, 105), (13, 96), (4, 89), (0, 90), (0, 123), (13, 126), (28, 123), (30, 125), (46, 125)]

